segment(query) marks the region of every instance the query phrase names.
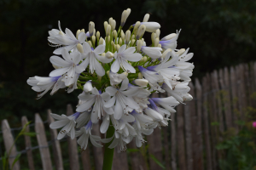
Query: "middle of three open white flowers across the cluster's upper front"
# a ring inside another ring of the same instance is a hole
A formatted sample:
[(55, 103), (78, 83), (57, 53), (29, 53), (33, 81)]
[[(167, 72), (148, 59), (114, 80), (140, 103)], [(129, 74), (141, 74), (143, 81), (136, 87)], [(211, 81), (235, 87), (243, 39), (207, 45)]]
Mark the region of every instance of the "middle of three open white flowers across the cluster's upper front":
[(105, 45), (99, 45), (95, 49), (90, 48), (90, 45), (88, 42), (84, 42), (83, 44), (83, 50), (84, 53), (82, 54), (82, 59), (84, 59), (84, 66), (85, 68), (89, 65), (90, 73), (92, 74), (94, 71), (96, 71), (98, 76), (104, 76), (105, 70), (102, 67), (102, 65), (97, 61), (101, 61), (102, 63), (109, 63), (113, 59), (108, 59), (105, 56), (99, 55), (104, 53), (105, 51)]

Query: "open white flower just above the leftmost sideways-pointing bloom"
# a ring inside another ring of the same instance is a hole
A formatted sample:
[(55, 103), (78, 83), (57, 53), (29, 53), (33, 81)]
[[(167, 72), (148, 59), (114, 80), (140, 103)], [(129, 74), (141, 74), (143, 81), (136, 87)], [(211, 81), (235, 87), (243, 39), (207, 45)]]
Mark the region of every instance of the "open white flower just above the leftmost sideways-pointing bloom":
[(62, 81), (65, 82), (66, 86), (70, 86), (76, 81), (76, 73), (81, 73), (85, 70), (84, 63), (79, 65), (81, 55), (78, 52), (68, 54), (67, 49), (64, 48), (61, 54), (64, 59), (55, 55), (50, 57), (49, 61), (61, 68), (51, 71), (49, 77), (58, 77), (67, 73)]

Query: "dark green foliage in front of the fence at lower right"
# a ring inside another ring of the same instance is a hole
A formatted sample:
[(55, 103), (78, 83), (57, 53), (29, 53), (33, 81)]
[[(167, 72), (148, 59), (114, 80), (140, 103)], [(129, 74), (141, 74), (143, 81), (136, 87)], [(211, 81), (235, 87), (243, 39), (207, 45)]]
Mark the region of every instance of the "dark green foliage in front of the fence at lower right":
[(224, 170), (256, 169), (255, 139), (256, 130), (253, 129), (252, 123), (248, 123), (248, 127), (244, 125), (238, 134), (224, 139), (216, 146), (216, 149), (222, 153), (222, 157), (219, 159), (219, 167)]

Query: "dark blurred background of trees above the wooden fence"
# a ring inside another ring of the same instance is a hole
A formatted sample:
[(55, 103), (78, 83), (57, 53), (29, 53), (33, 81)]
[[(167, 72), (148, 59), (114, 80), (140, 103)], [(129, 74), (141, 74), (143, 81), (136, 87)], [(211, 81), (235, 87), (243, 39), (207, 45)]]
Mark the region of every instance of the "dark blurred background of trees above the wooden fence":
[[(177, 48), (194, 53), (195, 77), (207, 72), (255, 61), (256, 1), (242, 0), (1, 0), (0, 1), (0, 119), (11, 127), (20, 127), (20, 117), (34, 120), (38, 112), (46, 120), (46, 111), (66, 113), (66, 105), (77, 104), (80, 92), (59, 90), (42, 99), (27, 85), (28, 77), (48, 77), (53, 70), (49, 57), (48, 31), (69, 28), (88, 31), (94, 21), (96, 31), (104, 32), (103, 22), (113, 17), (119, 26), (124, 9), (131, 8), (124, 31), (144, 14), (160, 23), (160, 37), (182, 29)], [(145, 34), (150, 44), (150, 34)], [(255, 120), (256, 121), (256, 120)], [(3, 153), (2, 153), (3, 154)]]

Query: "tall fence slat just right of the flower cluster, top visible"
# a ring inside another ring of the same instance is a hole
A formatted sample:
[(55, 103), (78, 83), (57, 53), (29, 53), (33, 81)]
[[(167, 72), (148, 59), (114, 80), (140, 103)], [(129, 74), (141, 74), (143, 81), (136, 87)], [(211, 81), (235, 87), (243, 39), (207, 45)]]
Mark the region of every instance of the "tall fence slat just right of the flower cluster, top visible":
[(198, 143), (195, 150), (194, 168), (203, 170), (203, 139), (202, 139), (202, 89), (201, 84), (197, 78), (195, 78), (195, 97), (196, 97), (196, 142)]

